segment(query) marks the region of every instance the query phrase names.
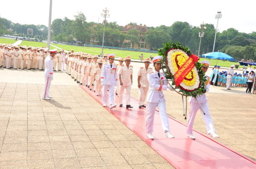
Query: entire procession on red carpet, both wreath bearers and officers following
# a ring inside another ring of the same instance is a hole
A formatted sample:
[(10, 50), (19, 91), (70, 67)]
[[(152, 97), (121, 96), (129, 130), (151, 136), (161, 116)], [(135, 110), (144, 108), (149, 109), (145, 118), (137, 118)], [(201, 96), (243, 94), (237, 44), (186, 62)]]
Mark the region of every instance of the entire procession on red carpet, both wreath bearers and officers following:
[[(133, 108), (130, 104), (131, 87), (133, 83), (133, 66), (130, 65), (132, 58), (130, 55), (124, 59), (120, 58), (119, 64), (115, 64), (115, 57), (116, 55), (114, 53), (104, 54), (104, 59), (98, 59), (98, 55), (91, 55), (89, 53), (82, 52), (70, 52), (69, 58), (66, 62), (67, 73), (71, 75), (71, 77), (74, 78), (77, 83), (80, 83), (80, 85), (87, 86), (91, 91), (96, 92), (96, 95), (100, 95), (101, 89), (103, 88), (103, 107), (106, 107), (108, 102), (111, 109), (117, 106), (114, 103), (115, 94), (119, 96), (119, 107), (122, 107), (123, 92), (125, 89), (126, 108)], [(154, 69), (149, 67), (151, 62), (153, 63)], [(208, 67), (209, 63), (206, 63), (203, 67), (206, 69), (204, 72), (207, 71)], [(137, 73), (139, 88), (138, 106), (139, 108), (146, 107), (144, 103), (147, 101), (148, 116), (146, 119), (146, 133), (147, 137), (151, 139), (154, 139), (152, 133), (156, 107), (159, 109), (164, 136), (174, 138), (174, 136), (170, 134), (165, 98), (163, 94), (163, 90), (173, 89), (172, 87), (168, 86), (164, 74), (160, 72), (161, 68), (162, 57), (154, 57), (152, 61), (150, 58), (146, 58), (144, 59), (144, 67), (140, 67)], [(94, 87), (93, 83), (95, 84)], [(207, 83), (206, 86), (207, 89), (209, 89), (209, 83)], [(203, 118), (206, 124), (207, 133), (212, 137), (219, 137), (215, 132), (215, 128), (209, 114), (205, 94), (203, 94), (203, 96), (198, 96), (198, 99), (202, 101), (200, 104), (204, 108), (206, 114), (203, 115)], [(195, 139), (195, 136), (193, 135), (193, 124), (196, 113), (199, 109), (199, 105), (193, 101), (193, 99), (190, 99), (189, 101), (191, 102), (191, 111), (188, 118), (187, 134), (189, 138)]]

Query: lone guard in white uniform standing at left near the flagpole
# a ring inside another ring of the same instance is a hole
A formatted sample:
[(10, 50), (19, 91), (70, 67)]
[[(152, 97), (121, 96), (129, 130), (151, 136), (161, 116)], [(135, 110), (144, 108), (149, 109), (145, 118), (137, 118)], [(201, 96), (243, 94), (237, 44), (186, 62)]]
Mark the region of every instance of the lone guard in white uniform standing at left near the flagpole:
[(55, 54), (57, 52), (57, 49), (49, 50), (50, 55), (46, 57), (45, 59), (45, 88), (44, 88), (44, 94), (42, 94), (42, 99), (44, 100), (50, 100), (52, 96), (49, 95), (49, 90), (51, 87), (51, 81), (53, 80), (53, 58), (55, 57)]

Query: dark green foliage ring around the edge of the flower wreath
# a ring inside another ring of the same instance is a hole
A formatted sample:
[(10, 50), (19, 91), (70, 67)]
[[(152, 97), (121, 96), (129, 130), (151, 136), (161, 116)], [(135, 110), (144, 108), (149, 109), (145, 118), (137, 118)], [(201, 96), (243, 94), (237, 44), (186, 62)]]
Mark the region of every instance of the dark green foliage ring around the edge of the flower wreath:
[[(166, 42), (165, 44), (163, 44), (163, 48), (158, 49), (158, 54), (160, 56), (163, 57), (162, 60), (162, 64), (163, 64), (163, 71), (166, 72), (165, 73), (165, 77), (167, 79), (172, 80), (172, 86), (175, 86), (175, 89), (179, 90), (179, 93), (181, 93), (184, 96), (191, 96), (191, 97), (197, 97), (197, 95), (203, 95), (206, 92), (206, 88), (205, 88), (205, 82), (207, 81), (206, 77), (204, 76), (205, 73), (203, 72), (203, 70), (201, 69), (203, 64), (196, 62), (196, 68), (199, 74), (199, 78), (200, 78), (200, 86), (198, 89), (196, 89), (195, 91), (188, 91), (188, 90), (183, 90), (180, 88), (180, 86), (176, 86), (175, 85), (175, 81), (174, 81), (174, 75), (170, 72), (166, 61), (167, 61), (167, 52), (170, 49), (181, 49), (183, 51), (185, 51), (187, 53), (187, 55), (189, 56), (191, 54), (191, 51), (188, 47), (184, 47), (182, 46), (179, 42), (176, 44), (174, 42), (170, 43), (170, 42)], [(165, 70), (164, 70), (165, 69)]]

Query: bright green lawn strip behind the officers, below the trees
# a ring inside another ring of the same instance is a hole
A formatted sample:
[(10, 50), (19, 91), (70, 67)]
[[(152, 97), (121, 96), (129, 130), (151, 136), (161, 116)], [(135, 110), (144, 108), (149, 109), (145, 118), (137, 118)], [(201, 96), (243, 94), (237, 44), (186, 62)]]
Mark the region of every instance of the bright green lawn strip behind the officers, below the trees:
[[(14, 42), (16, 42), (16, 40), (0, 38), (0, 43), (2, 43), (2, 44), (4, 44), (4, 43), (12, 44)], [(22, 41), (20, 46), (23, 46), (23, 45), (33, 46), (33, 47), (47, 46), (46, 43), (31, 42), (31, 41)], [(68, 51), (70, 51), (70, 49), (74, 49), (74, 51), (87, 52), (87, 53), (91, 53), (92, 55), (101, 54), (101, 48), (97, 48), (97, 47), (72, 46), (72, 45), (60, 45), (60, 44), (52, 44), (52, 45), (55, 45), (57, 47), (60, 47), (62, 49), (68, 50)], [(50, 49), (54, 49), (54, 47), (50, 46)], [(140, 60), (139, 56), (141, 53), (143, 53), (144, 59), (149, 58), (151, 54), (152, 54), (152, 57), (155, 57), (156, 55), (158, 55), (158, 53), (145, 53), (145, 52), (138, 52), (138, 51), (116, 50), (116, 49), (107, 49), (107, 48), (104, 48), (104, 53), (115, 53), (116, 56), (121, 57), (121, 58), (125, 58), (127, 55), (131, 55), (132, 59), (137, 59), (137, 60)], [(205, 59), (205, 58), (200, 58), (199, 62), (202, 62), (205, 60), (210, 62), (210, 66), (218, 65), (220, 67), (230, 67), (231, 65), (236, 65), (236, 64), (239, 65), (239, 63), (235, 63), (235, 62), (221, 61), (221, 60), (217, 61), (214, 59)], [(240, 66), (239, 68), (241, 68), (241, 67), (242, 66)]]

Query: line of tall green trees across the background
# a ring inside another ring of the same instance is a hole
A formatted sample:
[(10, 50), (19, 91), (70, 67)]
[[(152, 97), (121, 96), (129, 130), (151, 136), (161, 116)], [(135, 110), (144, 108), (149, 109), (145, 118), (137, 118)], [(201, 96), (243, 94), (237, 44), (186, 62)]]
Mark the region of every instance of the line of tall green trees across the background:
[[(63, 42), (81, 41), (86, 44), (102, 44), (103, 24), (87, 22), (86, 16), (78, 12), (75, 19), (55, 19), (52, 22), (51, 39)], [(137, 23), (131, 22), (132, 25)], [(214, 46), (216, 29), (213, 24), (205, 25), (205, 34), (201, 41), (200, 55), (211, 52)], [(34, 35), (42, 39), (47, 38), (48, 27), (45, 25), (23, 25), (12, 23), (0, 17), (0, 34), (26, 34), (27, 28), (34, 29)], [(12, 29), (13, 31), (7, 31)], [(171, 26), (160, 25), (157, 27), (147, 27), (148, 31), (144, 35), (146, 43), (151, 50), (162, 47), (162, 43), (180, 42), (183, 46), (188, 46), (193, 53), (198, 53), (200, 29), (198, 26), (190, 25), (187, 22), (176, 21)], [(116, 22), (106, 23), (104, 34), (104, 45), (114, 47), (133, 47), (139, 41), (139, 31), (130, 30), (126, 34)], [(256, 60), (256, 32), (250, 34), (240, 33), (234, 28), (229, 28), (222, 33), (217, 33), (215, 51), (229, 54), (235, 59)]]

